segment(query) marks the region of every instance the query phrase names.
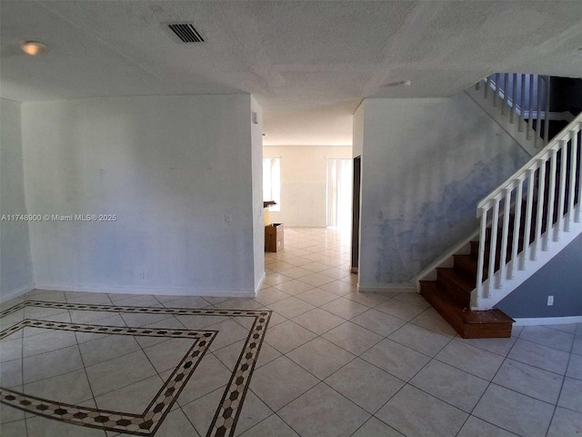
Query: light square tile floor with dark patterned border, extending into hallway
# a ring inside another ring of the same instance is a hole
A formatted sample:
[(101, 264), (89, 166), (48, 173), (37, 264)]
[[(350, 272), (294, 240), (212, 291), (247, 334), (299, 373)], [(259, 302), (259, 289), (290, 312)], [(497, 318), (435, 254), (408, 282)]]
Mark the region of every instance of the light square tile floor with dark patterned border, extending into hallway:
[(463, 340), (416, 294), (357, 293), (345, 235), (285, 232), (255, 299), (3, 303), (2, 436), (582, 433), (582, 324)]

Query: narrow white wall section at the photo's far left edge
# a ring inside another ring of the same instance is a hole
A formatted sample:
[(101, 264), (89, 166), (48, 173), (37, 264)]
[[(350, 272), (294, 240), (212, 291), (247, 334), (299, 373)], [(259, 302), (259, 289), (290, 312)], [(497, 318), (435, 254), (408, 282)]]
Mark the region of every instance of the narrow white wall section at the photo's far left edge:
[[(22, 162), (21, 106), (0, 99), (0, 218), (25, 215), (25, 183)], [(0, 300), (8, 300), (33, 288), (28, 223), (0, 221)]]

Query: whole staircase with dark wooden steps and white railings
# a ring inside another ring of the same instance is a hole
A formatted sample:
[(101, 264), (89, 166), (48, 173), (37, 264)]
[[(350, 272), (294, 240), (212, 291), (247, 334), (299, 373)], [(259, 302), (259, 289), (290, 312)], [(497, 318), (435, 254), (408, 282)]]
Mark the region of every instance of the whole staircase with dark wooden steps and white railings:
[[(537, 120), (525, 119), (525, 110), (499, 87), (498, 76), (497, 83), (488, 78), (481, 84), (489, 88), (485, 97), (497, 96), (507, 106), (499, 112), (507, 112), (511, 118), (508, 123), (520, 120), (510, 135), (519, 137), (521, 129), (524, 141), (529, 142), (527, 148), (535, 147), (538, 152), (479, 202), (478, 240), (467, 239), (460, 245), (464, 249), (443, 257), (437, 263), (441, 267), (437, 267), (436, 275), (429, 275), (432, 280), (419, 280), (422, 296), (463, 338), (510, 337), (514, 320), (494, 306), (582, 232), (582, 114), (548, 141), (548, 120), (542, 119), (548, 112), (542, 115), (541, 104), (537, 103)], [(513, 85), (516, 97), (517, 86)], [(530, 83), (529, 89), (533, 87)], [(544, 105), (547, 107), (547, 100)], [(533, 114), (534, 103), (528, 106)], [(542, 132), (537, 134), (535, 127)]]

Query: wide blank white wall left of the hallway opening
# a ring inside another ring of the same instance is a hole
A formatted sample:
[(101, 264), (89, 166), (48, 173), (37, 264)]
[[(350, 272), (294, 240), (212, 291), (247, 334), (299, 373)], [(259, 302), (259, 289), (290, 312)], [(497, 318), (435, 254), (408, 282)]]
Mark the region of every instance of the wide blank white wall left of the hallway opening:
[(30, 227), (35, 283), (252, 294), (250, 96), (25, 103), (28, 211), (115, 214)]

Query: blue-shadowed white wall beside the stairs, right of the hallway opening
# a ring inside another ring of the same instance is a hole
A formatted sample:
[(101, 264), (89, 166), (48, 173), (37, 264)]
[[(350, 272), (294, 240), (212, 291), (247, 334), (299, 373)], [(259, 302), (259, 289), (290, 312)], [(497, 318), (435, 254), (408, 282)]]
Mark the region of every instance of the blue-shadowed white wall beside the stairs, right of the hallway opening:
[(418, 272), (477, 230), (477, 201), (527, 155), (465, 94), (366, 99), (359, 111), (360, 290), (413, 287)]

